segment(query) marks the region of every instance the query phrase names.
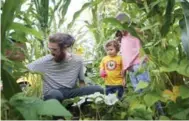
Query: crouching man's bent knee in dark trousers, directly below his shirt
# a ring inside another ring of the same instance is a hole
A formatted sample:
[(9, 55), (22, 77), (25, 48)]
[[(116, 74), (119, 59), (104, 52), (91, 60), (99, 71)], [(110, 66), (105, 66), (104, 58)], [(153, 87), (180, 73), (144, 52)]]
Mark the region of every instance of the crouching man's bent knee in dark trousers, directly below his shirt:
[(58, 101), (63, 100), (63, 94), (59, 90), (50, 90), (44, 96), (44, 100), (57, 99)]

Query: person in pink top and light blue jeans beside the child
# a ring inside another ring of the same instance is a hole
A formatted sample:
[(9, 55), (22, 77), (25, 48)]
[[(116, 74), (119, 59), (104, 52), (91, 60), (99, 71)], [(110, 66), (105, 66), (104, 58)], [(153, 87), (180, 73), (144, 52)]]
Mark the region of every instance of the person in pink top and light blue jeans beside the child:
[[(119, 21), (122, 21), (125, 18), (129, 17), (124, 13), (121, 13), (116, 17), (116, 19)], [(149, 71), (146, 69), (147, 56), (140, 53), (142, 48), (140, 40), (137, 37), (131, 35), (127, 30), (118, 30), (116, 32), (116, 37), (121, 44), (120, 51), (123, 61), (124, 74), (128, 72), (134, 90), (140, 81), (149, 83), (150, 75)], [(137, 73), (141, 68), (144, 68), (144, 71)], [(137, 92), (142, 92), (142, 90), (138, 90)], [(156, 103), (156, 107), (159, 113), (164, 115), (164, 111), (160, 102)]]

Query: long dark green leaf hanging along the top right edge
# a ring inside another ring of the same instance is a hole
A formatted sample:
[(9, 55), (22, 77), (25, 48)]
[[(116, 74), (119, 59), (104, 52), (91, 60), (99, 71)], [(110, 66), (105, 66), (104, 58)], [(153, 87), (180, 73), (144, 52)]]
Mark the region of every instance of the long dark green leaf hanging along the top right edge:
[(182, 29), (181, 39), (184, 51), (189, 58), (189, 2), (184, 0), (181, 5), (184, 11), (184, 18), (179, 22)]

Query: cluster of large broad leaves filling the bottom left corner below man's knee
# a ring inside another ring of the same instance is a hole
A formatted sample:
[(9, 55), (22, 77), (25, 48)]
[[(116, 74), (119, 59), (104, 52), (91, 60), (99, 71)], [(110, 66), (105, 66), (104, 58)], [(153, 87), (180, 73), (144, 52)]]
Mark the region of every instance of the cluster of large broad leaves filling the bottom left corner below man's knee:
[[(10, 101), (4, 100), (1, 104), (5, 111), (10, 110), (9, 107), (16, 109), (25, 120), (37, 120), (41, 119), (41, 116), (63, 116), (66, 119), (72, 117), (72, 114), (57, 100), (43, 101), (36, 97), (26, 97), (24, 93), (18, 93), (11, 97)], [(10, 116), (15, 113), (17, 112), (12, 112)], [(9, 117), (7, 119), (10, 119)]]

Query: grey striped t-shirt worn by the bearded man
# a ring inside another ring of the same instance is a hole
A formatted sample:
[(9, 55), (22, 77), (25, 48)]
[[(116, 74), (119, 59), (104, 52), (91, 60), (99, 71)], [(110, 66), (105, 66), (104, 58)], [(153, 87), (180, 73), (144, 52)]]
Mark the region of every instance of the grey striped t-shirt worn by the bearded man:
[(84, 80), (83, 60), (74, 54), (70, 60), (64, 60), (60, 63), (55, 62), (53, 56), (49, 54), (28, 64), (27, 67), (31, 71), (44, 74), (44, 95), (51, 89), (73, 88), (77, 79)]

